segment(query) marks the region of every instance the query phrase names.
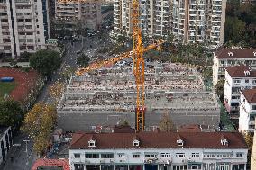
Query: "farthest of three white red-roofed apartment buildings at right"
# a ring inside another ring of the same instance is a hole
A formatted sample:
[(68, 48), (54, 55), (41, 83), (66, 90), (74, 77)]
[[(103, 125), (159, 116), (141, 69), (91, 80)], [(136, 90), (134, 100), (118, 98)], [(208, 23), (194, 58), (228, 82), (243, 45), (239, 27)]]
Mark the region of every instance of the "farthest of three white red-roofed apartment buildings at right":
[(213, 84), (224, 78), (226, 67), (241, 64), (256, 69), (256, 49), (222, 48), (214, 52)]

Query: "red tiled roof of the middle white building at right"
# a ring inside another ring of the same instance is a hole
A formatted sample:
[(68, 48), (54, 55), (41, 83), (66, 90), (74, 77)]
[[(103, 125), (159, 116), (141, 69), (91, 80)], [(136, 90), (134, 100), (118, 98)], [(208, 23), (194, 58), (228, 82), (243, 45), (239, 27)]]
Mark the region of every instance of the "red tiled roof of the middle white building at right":
[[(256, 70), (250, 70), (250, 67), (244, 65), (227, 67), (226, 71), (231, 77), (256, 77)], [(249, 71), (250, 75), (245, 75), (245, 71)]]

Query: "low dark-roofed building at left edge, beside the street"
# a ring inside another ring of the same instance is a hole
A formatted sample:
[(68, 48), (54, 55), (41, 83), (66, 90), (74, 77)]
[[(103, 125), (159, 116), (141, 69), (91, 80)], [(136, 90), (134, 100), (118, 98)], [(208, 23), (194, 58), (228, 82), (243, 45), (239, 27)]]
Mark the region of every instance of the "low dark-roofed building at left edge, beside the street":
[(12, 145), (11, 127), (0, 126), (0, 164), (5, 162), (6, 155)]

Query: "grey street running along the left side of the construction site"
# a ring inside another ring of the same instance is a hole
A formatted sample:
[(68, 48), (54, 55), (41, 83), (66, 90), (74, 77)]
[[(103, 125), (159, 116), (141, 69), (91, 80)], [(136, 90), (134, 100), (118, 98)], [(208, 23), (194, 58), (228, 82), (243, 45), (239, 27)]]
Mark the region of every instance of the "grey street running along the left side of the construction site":
[[(83, 43), (82, 43), (83, 42)], [(61, 73), (67, 67), (78, 69), (76, 59), (78, 57), (77, 51), (83, 50), (87, 53), (87, 50), (97, 49), (98, 37), (83, 38), (83, 40), (74, 42), (66, 42), (65, 47), (67, 49), (66, 55), (63, 57), (63, 61), (59, 70), (52, 76), (50, 82), (48, 82), (41, 94), (39, 95), (37, 102), (53, 103), (54, 100), (50, 99), (49, 87), (56, 81), (63, 81)], [(9, 150), (5, 164), (0, 166), (1, 170), (30, 170), (33, 162), (37, 156), (32, 152), (32, 141), (24, 134), (19, 134), (14, 137), (13, 147)]]

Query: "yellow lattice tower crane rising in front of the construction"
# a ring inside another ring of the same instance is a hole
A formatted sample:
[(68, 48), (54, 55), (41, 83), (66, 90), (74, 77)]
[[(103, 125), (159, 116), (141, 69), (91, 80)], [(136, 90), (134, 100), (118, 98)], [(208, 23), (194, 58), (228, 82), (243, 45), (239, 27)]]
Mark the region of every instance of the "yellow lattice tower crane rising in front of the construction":
[[(59, 3), (70, 3), (70, 2), (87, 2), (87, 0), (58, 0)], [(145, 127), (145, 62), (143, 58), (143, 53), (150, 49), (158, 49), (160, 45), (164, 42), (163, 40), (157, 40), (155, 43), (149, 45), (144, 48), (142, 43), (142, 31), (140, 28), (140, 3), (139, 0), (133, 0), (133, 50), (129, 52), (125, 52), (119, 55), (116, 58), (109, 58), (104, 61), (97, 61), (92, 63), (88, 67), (79, 68), (76, 72), (76, 75), (82, 76), (87, 72), (92, 70), (96, 70), (100, 67), (105, 67), (108, 64), (114, 64), (117, 61), (120, 61), (124, 58), (133, 58), (133, 75), (135, 76), (136, 90), (137, 90), (137, 98), (136, 98), (136, 120), (135, 120), (135, 129), (137, 131), (144, 130)]]

